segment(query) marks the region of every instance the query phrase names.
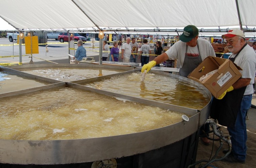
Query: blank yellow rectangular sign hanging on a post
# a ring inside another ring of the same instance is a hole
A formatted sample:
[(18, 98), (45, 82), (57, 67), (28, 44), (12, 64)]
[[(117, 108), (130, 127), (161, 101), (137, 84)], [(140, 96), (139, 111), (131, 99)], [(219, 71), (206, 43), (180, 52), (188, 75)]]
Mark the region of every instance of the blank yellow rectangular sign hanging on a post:
[[(31, 39), (32, 39), (32, 45), (31, 45)], [(27, 36), (25, 37), (25, 48), (26, 48), (26, 54), (39, 54), (39, 47), (38, 47), (38, 36)]]

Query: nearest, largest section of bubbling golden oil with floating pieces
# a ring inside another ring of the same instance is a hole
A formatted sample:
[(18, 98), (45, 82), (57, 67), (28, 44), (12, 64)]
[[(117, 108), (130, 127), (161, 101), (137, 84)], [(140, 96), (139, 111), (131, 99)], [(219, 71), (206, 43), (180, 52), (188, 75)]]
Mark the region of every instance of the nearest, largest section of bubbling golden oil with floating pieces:
[(96, 138), (182, 121), (181, 113), (74, 88), (54, 88), (0, 101), (0, 139)]

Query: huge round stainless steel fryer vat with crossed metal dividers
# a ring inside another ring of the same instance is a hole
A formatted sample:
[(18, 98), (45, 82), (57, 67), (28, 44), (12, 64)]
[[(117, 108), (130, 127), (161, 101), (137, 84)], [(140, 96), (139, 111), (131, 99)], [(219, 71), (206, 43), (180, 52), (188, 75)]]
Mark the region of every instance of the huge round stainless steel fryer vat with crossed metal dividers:
[[(76, 64), (62, 64), (62, 65), (28, 65), (28, 66), (14, 66), (9, 68), (0, 67), (0, 70), (17, 73), (18, 75), (25, 75), (23, 72), (18, 72), (13, 69), (19, 68), (32, 68), (32, 67), (72, 67)], [(97, 68), (125, 68), (127, 71), (107, 75), (99, 76), (91, 79), (82, 80), (82, 82), (100, 80), (107, 77), (131, 73), (139, 71), (132, 67), (117, 67), (117, 66), (104, 66), (104, 65), (90, 65), (82, 64), (80, 67), (97, 67)], [(91, 92), (97, 92), (100, 94), (127, 99), (143, 103), (146, 105), (154, 105), (161, 108), (170, 109), (177, 112), (187, 114), (189, 121), (181, 121), (179, 123), (169, 125), (167, 127), (138, 132), (133, 134), (89, 138), (89, 139), (70, 139), (70, 140), (3, 140), (0, 139), (0, 163), (3, 164), (18, 164), (18, 165), (55, 165), (56, 164), (73, 164), (73, 163), (89, 163), (94, 161), (108, 160), (116, 158), (118, 167), (126, 167), (129, 165), (127, 162), (132, 162), (130, 165), (133, 167), (147, 167), (147, 166), (159, 166), (167, 167), (168, 165), (174, 165), (174, 167), (186, 167), (189, 164), (195, 162), (197, 143), (198, 143), (198, 128), (207, 120), (209, 116), (211, 93), (199, 83), (184, 78), (178, 75), (166, 74), (164, 72), (152, 71), (154, 73), (162, 75), (170, 75), (181, 80), (187, 81), (193, 85), (200, 87), (206, 95), (209, 96), (209, 103), (202, 109), (191, 109), (187, 107), (176, 106), (172, 104), (161, 103), (157, 101), (126, 96), (113, 92), (98, 90), (79, 85), (81, 81), (74, 82), (57, 82), (55, 80), (49, 80), (51, 83), (47, 86), (15, 91), (7, 94), (0, 94), (1, 97), (20, 95), (24, 93), (31, 93), (38, 90), (47, 90), (54, 87), (70, 87), (79, 88)], [(35, 75), (26, 74), (26, 77), (36, 78), (37, 80), (47, 79)], [(164, 157), (163, 153), (166, 153)], [(176, 153), (173, 155), (173, 153)], [(156, 156), (157, 154), (157, 156)], [(159, 156), (160, 155), (160, 156)], [(131, 159), (132, 158), (132, 159)], [(136, 158), (136, 159), (135, 159)], [(150, 159), (149, 159), (150, 158)], [(154, 159), (155, 158), (155, 159)], [(164, 163), (160, 163), (159, 158), (162, 158)], [(122, 161), (125, 160), (125, 163)], [(132, 160), (132, 161), (131, 161)], [(17, 165), (17, 166), (18, 166)], [(89, 164), (91, 165), (91, 163)], [(177, 166), (175, 166), (177, 165)], [(19, 166), (18, 166), (19, 167)], [(78, 167), (78, 166), (77, 166)]]

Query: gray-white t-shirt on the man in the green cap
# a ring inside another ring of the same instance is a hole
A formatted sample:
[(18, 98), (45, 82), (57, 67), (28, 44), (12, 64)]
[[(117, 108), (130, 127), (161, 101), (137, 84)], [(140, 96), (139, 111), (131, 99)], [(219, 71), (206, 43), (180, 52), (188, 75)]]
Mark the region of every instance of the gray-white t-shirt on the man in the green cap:
[[(203, 38), (198, 38), (197, 41), (198, 41), (199, 52), (200, 52), (202, 61), (208, 56), (216, 57), (213, 46), (209, 41)], [(193, 52), (197, 52), (197, 53), (193, 53)], [(185, 59), (185, 54), (186, 54), (186, 43), (180, 40), (174, 43), (165, 53), (167, 54), (170, 60), (177, 59), (177, 67), (182, 68), (184, 59)], [(198, 54), (197, 46), (195, 47), (188, 46), (188, 54), (191, 54), (191, 55)]]

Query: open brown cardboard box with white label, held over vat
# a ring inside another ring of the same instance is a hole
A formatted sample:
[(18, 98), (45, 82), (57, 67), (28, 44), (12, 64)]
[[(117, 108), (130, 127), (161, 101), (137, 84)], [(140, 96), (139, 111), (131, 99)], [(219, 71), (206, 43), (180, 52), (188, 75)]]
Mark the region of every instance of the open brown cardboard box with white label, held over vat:
[[(201, 76), (216, 69), (218, 71), (205, 78), (203, 82), (199, 80)], [(242, 69), (228, 59), (209, 56), (188, 75), (188, 78), (202, 83), (215, 98), (218, 98), (242, 76), (239, 70)]]

